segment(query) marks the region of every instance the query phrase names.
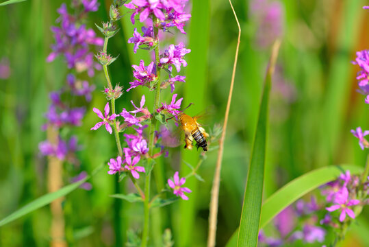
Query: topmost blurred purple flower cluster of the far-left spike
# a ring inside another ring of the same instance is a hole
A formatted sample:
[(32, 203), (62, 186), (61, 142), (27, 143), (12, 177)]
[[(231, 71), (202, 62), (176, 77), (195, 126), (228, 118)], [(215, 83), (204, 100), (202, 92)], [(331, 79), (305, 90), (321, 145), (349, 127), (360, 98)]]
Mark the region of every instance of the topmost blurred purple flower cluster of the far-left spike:
[(101, 66), (94, 62), (94, 54), (89, 51), (88, 46), (102, 46), (103, 39), (96, 37), (94, 30), (87, 29), (86, 25), (79, 23), (87, 12), (97, 11), (99, 3), (97, 0), (84, 0), (82, 6), (81, 13), (75, 15), (68, 13), (65, 3), (58, 9), (60, 17), (57, 22), (60, 22), (60, 27), (51, 27), (55, 44), (51, 47), (53, 51), (47, 57), (47, 62), (52, 62), (62, 54), (68, 69), (75, 69), (78, 73), (87, 71), (89, 76), (93, 76), (94, 69), (101, 69)]

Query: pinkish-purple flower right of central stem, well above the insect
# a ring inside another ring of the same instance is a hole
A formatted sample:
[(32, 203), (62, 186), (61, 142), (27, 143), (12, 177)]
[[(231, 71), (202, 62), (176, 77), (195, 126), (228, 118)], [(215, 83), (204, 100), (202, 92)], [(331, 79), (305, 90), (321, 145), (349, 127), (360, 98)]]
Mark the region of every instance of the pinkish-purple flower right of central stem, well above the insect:
[(178, 45), (169, 45), (169, 48), (160, 56), (160, 67), (166, 65), (171, 66), (171, 64), (173, 64), (177, 72), (181, 71), (181, 65), (183, 65), (183, 67), (187, 66), (187, 62), (183, 59), (183, 56), (190, 53), (190, 51), (190, 49), (184, 48), (182, 42)]

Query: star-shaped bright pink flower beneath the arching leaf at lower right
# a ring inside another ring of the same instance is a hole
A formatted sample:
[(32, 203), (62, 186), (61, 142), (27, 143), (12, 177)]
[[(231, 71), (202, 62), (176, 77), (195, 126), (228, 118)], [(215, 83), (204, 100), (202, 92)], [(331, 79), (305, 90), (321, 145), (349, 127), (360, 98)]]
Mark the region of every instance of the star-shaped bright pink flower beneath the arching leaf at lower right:
[(329, 212), (335, 211), (337, 209), (341, 209), (340, 222), (344, 221), (344, 219), (346, 218), (346, 213), (348, 216), (355, 219), (354, 211), (352, 209), (349, 209), (348, 207), (355, 206), (359, 204), (360, 201), (355, 200), (355, 199), (349, 200), (348, 190), (346, 187), (342, 187), (342, 189), (338, 191), (338, 193), (336, 193), (335, 199), (333, 200), (333, 202), (335, 203), (335, 205), (331, 207), (327, 207), (325, 209), (327, 209), (327, 211)]

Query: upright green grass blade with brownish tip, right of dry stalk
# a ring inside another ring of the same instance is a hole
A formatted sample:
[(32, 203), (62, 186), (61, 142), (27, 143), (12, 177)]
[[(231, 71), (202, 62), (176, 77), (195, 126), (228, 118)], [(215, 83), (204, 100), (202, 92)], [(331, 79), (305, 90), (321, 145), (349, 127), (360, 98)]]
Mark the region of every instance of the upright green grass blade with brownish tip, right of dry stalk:
[(268, 71), (266, 72), (264, 92), (262, 95), (262, 102), (260, 104), (259, 119), (257, 121), (249, 173), (247, 174), (244, 202), (242, 205), (240, 230), (238, 233), (237, 243), (238, 246), (257, 246), (260, 214), (262, 211), (269, 93), (279, 45), (279, 41), (276, 41), (275, 45), (273, 45)]

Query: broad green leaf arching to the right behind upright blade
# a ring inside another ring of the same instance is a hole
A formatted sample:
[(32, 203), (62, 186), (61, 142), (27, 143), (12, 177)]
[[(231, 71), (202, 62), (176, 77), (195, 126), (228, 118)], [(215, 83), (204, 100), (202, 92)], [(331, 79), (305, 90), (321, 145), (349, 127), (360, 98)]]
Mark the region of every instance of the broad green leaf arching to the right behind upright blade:
[[(363, 172), (363, 167), (355, 165), (330, 165), (299, 176), (287, 185), (281, 187), (281, 189), (273, 193), (272, 196), (266, 199), (263, 203), (260, 228), (266, 226), (270, 220), (283, 211), (283, 209), (290, 206), (290, 204), (296, 202), (298, 198), (301, 198), (310, 191), (337, 179), (338, 176), (346, 170), (349, 170), (351, 174), (360, 174)], [(229, 239), (229, 242), (227, 243), (228, 247), (236, 246), (237, 233), (238, 231), (233, 233), (231, 239)]]

